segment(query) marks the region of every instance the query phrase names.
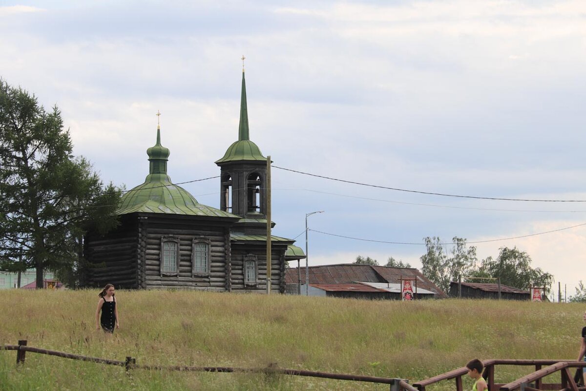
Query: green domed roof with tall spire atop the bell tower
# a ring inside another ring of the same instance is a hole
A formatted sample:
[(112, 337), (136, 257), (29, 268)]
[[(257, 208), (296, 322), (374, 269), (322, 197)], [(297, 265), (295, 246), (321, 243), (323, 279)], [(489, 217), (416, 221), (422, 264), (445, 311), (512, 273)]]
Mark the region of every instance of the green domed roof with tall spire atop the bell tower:
[(242, 72), (242, 94), (240, 97), (240, 124), (238, 127), (238, 141), (234, 142), (222, 159), (217, 163), (237, 162), (239, 160), (260, 160), (267, 161), (267, 158), (260, 152), (258, 146), (250, 141), (248, 130), (248, 108), (246, 104), (246, 81), (244, 80), (244, 71)]

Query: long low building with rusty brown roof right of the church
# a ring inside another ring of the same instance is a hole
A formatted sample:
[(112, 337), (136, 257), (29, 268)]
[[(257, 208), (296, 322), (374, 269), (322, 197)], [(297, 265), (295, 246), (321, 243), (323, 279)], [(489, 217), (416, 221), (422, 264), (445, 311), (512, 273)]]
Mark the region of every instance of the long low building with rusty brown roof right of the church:
[[(415, 299), (448, 297), (417, 269), (353, 263), (309, 267), (309, 296), (400, 300), (401, 278), (417, 280)], [(285, 286), (289, 294), (297, 294), (299, 287), (305, 294), (305, 268), (288, 267)]]

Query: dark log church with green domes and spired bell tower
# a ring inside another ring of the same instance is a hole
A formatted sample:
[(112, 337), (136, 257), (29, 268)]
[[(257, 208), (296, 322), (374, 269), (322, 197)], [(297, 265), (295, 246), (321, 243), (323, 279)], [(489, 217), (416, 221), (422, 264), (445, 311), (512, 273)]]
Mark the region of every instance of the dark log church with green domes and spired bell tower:
[[(171, 182), (160, 126), (147, 154), (149, 174), (121, 198), (118, 228), (105, 236), (86, 236), (82, 284), (266, 291), (267, 158), (249, 139), (244, 70), (239, 138), (216, 161), (220, 209), (198, 203)], [(271, 291), (285, 291), (285, 256), (293, 243), (271, 236)]]

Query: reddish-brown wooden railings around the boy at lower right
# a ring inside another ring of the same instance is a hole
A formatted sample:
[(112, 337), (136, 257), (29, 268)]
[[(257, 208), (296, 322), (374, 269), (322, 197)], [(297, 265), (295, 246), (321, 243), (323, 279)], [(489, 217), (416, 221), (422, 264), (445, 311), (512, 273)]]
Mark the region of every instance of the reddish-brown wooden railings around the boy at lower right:
[[(574, 377), (570, 376), (570, 368), (584, 368), (586, 363), (571, 361), (571, 360), (523, 360), (523, 359), (489, 359), (482, 362), (485, 370), (482, 377), (486, 379), (488, 391), (513, 391), (520, 389), (520, 391), (543, 391), (543, 390), (573, 390), (585, 391), (586, 387), (578, 387), (574, 382)], [(496, 365), (520, 365), (520, 366), (534, 366), (535, 371), (520, 379), (516, 379), (511, 383), (495, 383), (495, 366)], [(543, 368), (546, 366), (546, 368)], [(561, 372), (560, 383), (543, 383), (545, 376), (553, 373)], [(425, 387), (433, 385), (444, 380), (455, 380), (456, 391), (463, 391), (462, 376), (468, 373), (468, 368), (454, 369), (453, 371), (442, 373), (429, 379), (420, 380), (413, 383), (420, 391), (425, 391)], [(582, 385), (583, 385), (582, 379)], [(532, 383), (534, 382), (534, 383)]]

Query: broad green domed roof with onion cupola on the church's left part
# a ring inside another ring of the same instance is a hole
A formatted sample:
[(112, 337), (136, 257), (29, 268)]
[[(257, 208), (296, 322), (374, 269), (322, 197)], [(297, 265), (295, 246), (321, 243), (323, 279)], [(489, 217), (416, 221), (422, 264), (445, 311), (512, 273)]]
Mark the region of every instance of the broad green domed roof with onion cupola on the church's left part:
[(150, 162), (147, 179), (122, 196), (116, 211), (118, 215), (145, 212), (240, 218), (229, 212), (197, 203), (187, 190), (171, 182), (166, 166), (169, 149), (161, 145), (159, 129), (156, 145), (149, 148), (147, 153)]

